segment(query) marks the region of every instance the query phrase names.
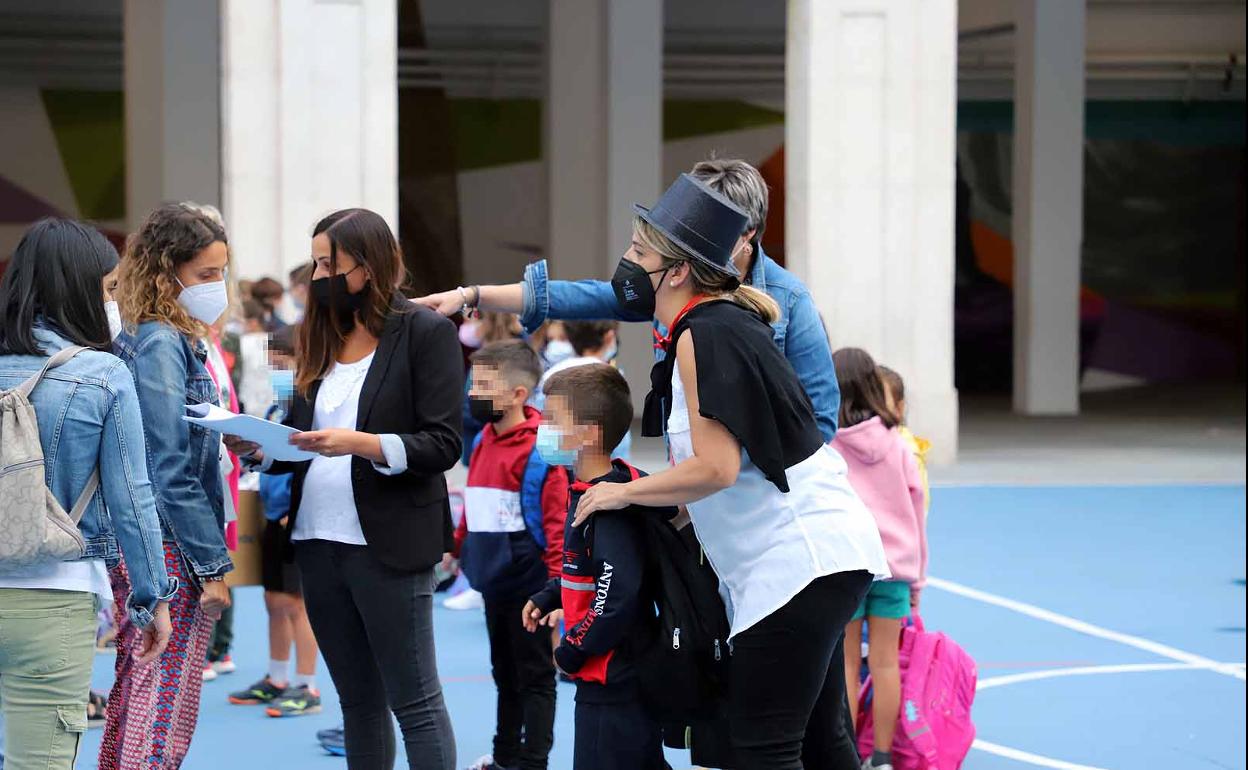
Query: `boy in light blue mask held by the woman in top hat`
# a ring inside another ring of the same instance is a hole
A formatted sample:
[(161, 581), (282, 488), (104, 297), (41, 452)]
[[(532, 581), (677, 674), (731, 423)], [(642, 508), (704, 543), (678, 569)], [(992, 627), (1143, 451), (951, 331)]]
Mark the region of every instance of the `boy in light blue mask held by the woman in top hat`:
[[(639, 472), (612, 461), (633, 421), (628, 383), (613, 367), (587, 364), (552, 377), (538, 451), (552, 465), (572, 465), (568, 510), (592, 485), (623, 483)], [(663, 735), (641, 700), (639, 661), (654, 638), (654, 599), (646, 579), (646, 517), (670, 519), (673, 508), (631, 505), (602, 512), (564, 530), (563, 574), (524, 607), (524, 625), (554, 625), (562, 609), (567, 631), (554, 651), (577, 681), (575, 770), (659, 770)], [(545, 633), (535, 634), (545, 638)]]

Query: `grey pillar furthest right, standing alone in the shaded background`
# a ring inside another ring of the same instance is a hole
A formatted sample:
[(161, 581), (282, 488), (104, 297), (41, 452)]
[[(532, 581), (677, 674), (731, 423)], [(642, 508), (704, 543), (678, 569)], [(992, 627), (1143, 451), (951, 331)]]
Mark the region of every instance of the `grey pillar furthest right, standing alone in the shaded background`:
[(1080, 409), (1086, 0), (1018, 0), (1015, 32), (1013, 406)]

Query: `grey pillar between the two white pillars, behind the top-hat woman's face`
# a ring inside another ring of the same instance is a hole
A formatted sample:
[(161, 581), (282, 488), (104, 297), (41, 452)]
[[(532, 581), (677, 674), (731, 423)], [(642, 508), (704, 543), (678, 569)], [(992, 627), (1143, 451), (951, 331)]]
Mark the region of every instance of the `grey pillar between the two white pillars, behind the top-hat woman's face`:
[[(550, 268), (605, 278), (628, 248), (633, 202), (651, 202), (663, 161), (663, 1), (550, 0), (545, 166)], [(622, 328), (634, 403), (649, 391), (650, 329)]]

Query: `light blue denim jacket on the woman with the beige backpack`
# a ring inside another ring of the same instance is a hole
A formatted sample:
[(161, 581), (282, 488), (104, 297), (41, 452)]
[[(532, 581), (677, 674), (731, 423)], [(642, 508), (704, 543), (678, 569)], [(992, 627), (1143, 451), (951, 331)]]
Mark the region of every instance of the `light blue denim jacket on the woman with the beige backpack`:
[[(35, 338), (49, 356), (69, 346), (46, 328), (36, 328)], [(0, 389), (17, 387), (46, 362), (46, 357), (0, 356)], [(112, 565), (125, 557), (134, 592), (127, 600), (130, 616), (147, 625), (156, 603), (173, 595), (177, 582), (165, 570), (134, 378), (116, 356), (84, 351), (49, 371), (30, 402), (39, 417), (47, 488), (66, 510), (91, 472), (100, 469), (100, 490), (79, 523), (86, 540), (84, 558)]]

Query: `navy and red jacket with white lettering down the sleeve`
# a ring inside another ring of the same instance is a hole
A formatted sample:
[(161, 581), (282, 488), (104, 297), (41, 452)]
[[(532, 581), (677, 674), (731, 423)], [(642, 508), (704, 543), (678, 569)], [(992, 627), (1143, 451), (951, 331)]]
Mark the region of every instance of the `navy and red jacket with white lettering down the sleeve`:
[[(559, 668), (582, 685), (625, 685), (636, 676), (636, 656), (655, 624), (646, 580), (645, 529), (641, 517), (675, 515), (671, 508), (630, 505), (600, 510), (573, 528), (580, 495), (599, 482), (629, 482), (640, 472), (623, 461), (592, 482), (575, 482), (568, 504), (563, 575), (533, 597), (543, 613), (563, 608), (567, 631), (555, 648)], [(577, 698), (585, 690), (580, 688)]]

